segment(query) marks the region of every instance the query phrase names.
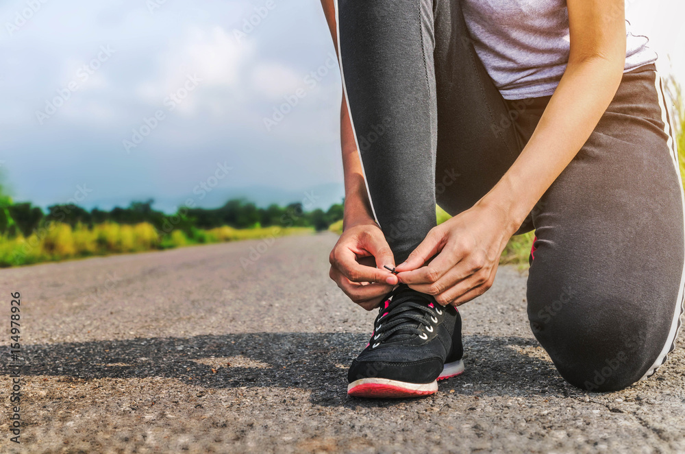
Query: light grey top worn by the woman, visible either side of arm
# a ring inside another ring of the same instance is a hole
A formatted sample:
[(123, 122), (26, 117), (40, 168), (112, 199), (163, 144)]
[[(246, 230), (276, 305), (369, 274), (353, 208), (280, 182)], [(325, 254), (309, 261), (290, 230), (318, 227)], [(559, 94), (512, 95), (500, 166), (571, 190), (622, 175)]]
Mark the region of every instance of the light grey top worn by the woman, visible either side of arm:
[[(479, 58), (505, 99), (549, 96), (569, 62), (566, 0), (464, 0)], [(648, 39), (627, 27), (625, 71), (656, 61)]]

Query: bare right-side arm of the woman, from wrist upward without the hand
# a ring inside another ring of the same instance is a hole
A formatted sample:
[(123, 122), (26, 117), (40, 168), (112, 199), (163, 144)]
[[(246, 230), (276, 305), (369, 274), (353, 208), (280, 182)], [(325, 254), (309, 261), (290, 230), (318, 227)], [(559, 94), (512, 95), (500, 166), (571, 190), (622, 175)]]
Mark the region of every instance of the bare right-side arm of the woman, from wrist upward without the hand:
[(514, 165), (482, 200), (525, 217), (599, 123), (625, 66), (623, 0), (568, 0), (571, 54), (538, 127)]

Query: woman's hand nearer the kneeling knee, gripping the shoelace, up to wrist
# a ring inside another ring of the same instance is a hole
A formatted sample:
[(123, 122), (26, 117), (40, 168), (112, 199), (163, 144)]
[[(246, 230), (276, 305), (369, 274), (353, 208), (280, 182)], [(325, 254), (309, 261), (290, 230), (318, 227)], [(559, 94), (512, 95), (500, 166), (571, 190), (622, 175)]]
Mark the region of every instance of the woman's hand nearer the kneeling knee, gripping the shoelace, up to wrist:
[(433, 295), (443, 306), (459, 306), (484, 294), (492, 287), (499, 256), (516, 230), (507, 218), (503, 210), (476, 204), (433, 228), (397, 266), (399, 281)]

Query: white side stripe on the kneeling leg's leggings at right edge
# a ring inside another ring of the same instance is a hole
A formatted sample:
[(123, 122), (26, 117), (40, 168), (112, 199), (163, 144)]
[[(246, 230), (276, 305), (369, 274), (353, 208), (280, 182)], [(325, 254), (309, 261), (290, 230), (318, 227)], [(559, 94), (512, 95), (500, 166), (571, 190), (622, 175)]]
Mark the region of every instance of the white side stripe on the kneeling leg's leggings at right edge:
[[(657, 71), (656, 77), (654, 78), (655, 80), (655, 85), (656, 85), (656, 93), (659, 98), (659, 106), (661, 108), (661, 119), (664, 122), (664, 132), (669, 136), (668, 140), (668, 145), (669, 148), (671, 149), (671, 158), (673, 158), (673, 165), (675, 166), (675, 172), (678, 176), (678, 181), (680, 182), (680, 198), (683, 204), (683, 213), (684, 213), (684, 218), (685, 218), (685, 193), (683, 191), (683, 185), (682, 185), (682, 178), (680, 176), (680, 165), (678, 163), (678, 153), (677, 153), (677, 144), (675, 143), (675, 140), (673, 139), (673, 124), (671, 123), (670, 119), (672, 118), (671, 115), (669, 115), (668, 107), (666, 104), (666, 97), (664, 96), (664, 91), (662, 88), (662, 80), (659, 75), (659, 72)], [(685, 229), (685, 227), (684, 227)], [(685, 230), (684, 230), (685, 232)], [(680, 326), (682, 326), (682, 323), (680, 322), (680, 318), (683, 314), (683, 311), (685, 308), (683, 307), (683, 291), (685, 287), (685, 264), (684, 264), (684, 269), (683, 269), (683, 274), (680, 278), (680, 288), (678, 289), (678, 294), (677, 298), (675, 300), (675, 311), (673, 311), (673, 321), (671, 322), (671, 330), (669, 331), (669, 337), (666, 339), (666, 344), (664, 344), (664, 348), (661, 350), (661, 353), (659, 354), (659, 357), (654, 361), (653, 365), (649, 370), (647, 370), (647, 373), (643, 375), (643, 377), (640, 380), (644, 380), (647, 377), (649, 377), (651, 374), (656, 372), (656, 370), (661, 366), (663, 363), (666, 362), (668, 354), (673, 351), (675, 348), (675, 339), (678, 336), (678, 331), (680, 331)]]

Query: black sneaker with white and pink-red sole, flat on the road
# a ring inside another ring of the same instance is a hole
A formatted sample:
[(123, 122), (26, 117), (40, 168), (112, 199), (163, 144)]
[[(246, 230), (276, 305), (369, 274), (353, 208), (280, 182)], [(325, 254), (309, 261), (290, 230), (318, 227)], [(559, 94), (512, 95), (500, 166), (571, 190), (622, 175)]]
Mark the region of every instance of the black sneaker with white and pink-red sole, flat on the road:
[(462, 319), (452, 306), (399, 285), (381, 304), (371, 341), (347, 372), (347, 394), (414, 397), (434, 394), (437, 380), (464, 372)]

